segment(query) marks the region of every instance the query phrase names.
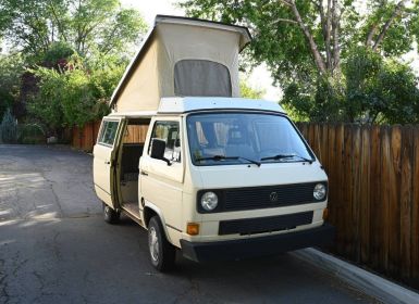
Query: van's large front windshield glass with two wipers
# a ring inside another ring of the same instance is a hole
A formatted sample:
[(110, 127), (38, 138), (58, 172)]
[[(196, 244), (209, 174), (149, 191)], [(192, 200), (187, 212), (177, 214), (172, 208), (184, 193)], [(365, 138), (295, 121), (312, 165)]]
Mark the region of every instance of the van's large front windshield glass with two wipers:
[(261, 113), (206, 113), (187, 117), (195, 165), (313, 161), (291, 122)]

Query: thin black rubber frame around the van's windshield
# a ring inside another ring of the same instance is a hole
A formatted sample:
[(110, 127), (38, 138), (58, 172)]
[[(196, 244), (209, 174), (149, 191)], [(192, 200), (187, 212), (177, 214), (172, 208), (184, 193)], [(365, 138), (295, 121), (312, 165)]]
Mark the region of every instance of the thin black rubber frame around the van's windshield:
[[(285, 114), (278, 113), (278, 112), (271, 112), (271, 111), (243, 111), (243, 110), (236, 110), (236, 109), (223, 110), (223, 111), (217, 111), (217, 112), (206, 110), (206, 111), (189, 112), (187, 114), (187, 116), (185, 117), (185, 121), (186, 121), (185, 126), (186, 126), (186, 134), (187, 134), (187, 138), (188, 138), (189, 155), (190, 155), (190, 161), (192, 161), (193, 165), (195, 165), (195, 166), (219, 166), (219, 165), (251, 164), (250, 162), (247, 162), (247, 161), (245, 161), (243, 159), (234, 160), (234, 162), (229, 161), (229, 160), (224, 160), (224, 161), (218, 160), (218, 161), (214, 161), (214, 162), (211, 162), (211, 163), (208, 163), (208, 162), (202, 163), (201, 161), (197, 161), (196, 160), (196, 157), (194, 156), (194, 152), (192, 150), (192, 147), (194, 145), (194, 143), (192, 142), (193, 141), (193, 137), (190, 136), (190, 130), (189, 130), (189, 127), (188, 127), (189, 118), (194, 117), (194, 116), (198, 116), (198, 115), (210, 115), (210, 114), (214, 114), (214, 115), (220, 115), (220, 114), (257, 114), (257, 115), (280, 116), (282, 118), (285, 118), (287, 121), (287, 123), (289, 124), (289, 126), (294, 129), (294, 131), (297, 135), (298, 139), (300, 140), (300, 142), (304, 144), (308, 155), (311, 159), (311, 162), (316, 162), (317, 161), (317, 157), (316, 157), (315, 153), (312, 152), (311, 148), (309, 147), (309, 144), (307, 143), (307, 141), (303, 137), (301, 132), (298, 130), (296, 125), (289, 119), (289, 117), (287, 115), (285, 115)], [(227, 156), (239, 156), (239, 155), (227, 155)], [(260, 160), (255, 160), (255, 161), (260, 161)], [(261, 164), (272, 164), (272, 163), (307, 163), (307, 161), (301, 160), (299, 157), (294, 157), (293, 160), (286, 160), (286, 161), (271, 160), (271, 161), (263, 161), (263, 162), (261, 162)]]

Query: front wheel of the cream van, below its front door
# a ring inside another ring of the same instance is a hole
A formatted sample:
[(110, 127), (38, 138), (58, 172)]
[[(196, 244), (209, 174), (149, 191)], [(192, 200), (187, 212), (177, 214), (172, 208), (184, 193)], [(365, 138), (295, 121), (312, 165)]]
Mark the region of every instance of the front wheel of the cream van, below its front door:
[(174, 267), (176, 250), (169, 243), (158, 216), (148, 223), (148, 251), (151, 265), (157, 270), (164, 273)]

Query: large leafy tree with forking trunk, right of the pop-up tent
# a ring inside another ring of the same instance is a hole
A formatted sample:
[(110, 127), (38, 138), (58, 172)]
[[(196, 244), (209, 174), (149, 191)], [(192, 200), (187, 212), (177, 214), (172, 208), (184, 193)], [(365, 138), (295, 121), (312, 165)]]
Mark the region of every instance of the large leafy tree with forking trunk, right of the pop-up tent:
[(285, 102), (300, 115), (318, 121), (354, 121), (343, 102), (347, 93), (343, 65), (353, 47), (363, 46), (393, 60), (408, 52), (419, 37), (417, 1), (363, 3), (188, 0), (181, 5), (190, 16), (248, 25), (254, 41), (245, 54), (246, 62), (266, 62), (284, 89)]

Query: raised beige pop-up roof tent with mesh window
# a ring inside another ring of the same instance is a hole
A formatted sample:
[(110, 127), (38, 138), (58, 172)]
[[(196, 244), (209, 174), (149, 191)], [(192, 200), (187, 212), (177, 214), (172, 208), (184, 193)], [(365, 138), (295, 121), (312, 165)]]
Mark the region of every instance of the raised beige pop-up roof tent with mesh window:
[(116, 112), (156, 111), (163, 97), (239, 97), (246, 27), (157, 15), (112, 94)]

